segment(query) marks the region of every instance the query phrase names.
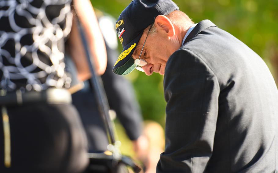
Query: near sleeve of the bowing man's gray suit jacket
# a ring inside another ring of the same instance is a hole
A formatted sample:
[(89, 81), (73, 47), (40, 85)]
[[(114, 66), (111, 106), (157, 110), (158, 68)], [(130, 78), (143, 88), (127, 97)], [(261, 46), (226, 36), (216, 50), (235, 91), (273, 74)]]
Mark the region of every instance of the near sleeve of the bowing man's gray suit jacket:
[(213, 71), (192, 51), (177, 50), (164, 76), (165, 152), (157, 172), (204, 172), (213, 151), (219, 84)]

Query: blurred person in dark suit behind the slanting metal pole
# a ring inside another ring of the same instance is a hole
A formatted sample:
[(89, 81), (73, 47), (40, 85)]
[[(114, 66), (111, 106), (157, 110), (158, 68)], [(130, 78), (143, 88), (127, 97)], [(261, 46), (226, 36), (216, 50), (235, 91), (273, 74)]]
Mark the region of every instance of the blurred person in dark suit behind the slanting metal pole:
[[(135, 152), (139, 154), (143, 152), (142, 150), (144, 147), (141, 144), (143, 138), (141, 136), (141, 111), (137, 101), (135, 101), (134, 90), (131, 83), (123, 76), (114, 74), (111, 70), (118, 57), (118, 41), (114, 30), (115, 19), (110, 16), (104, 16), (100, 13), (101, 12), (98, 13), (101, 15), (98, 21), (101, 32), (104, 36), (108, 59), (108, 68), (105, 70), (104, 74), (101, 75), (102, 82), (107, 95), (109, 107), (116, 112), (119, 121), (126, 130), (127, 136), (133, 143)], [(75, 31), (76, 29), (77, 26), (73, 26), (73, 30)], [(79, 55), (79, 57), (86, 56), (80, 37), (70, 38), (69, 41), (70, 44), (76, 44), (75, 47), (79, 47), (79, 49), (68, 48), (71, 55)], [(82, 59), (86, 59), (86, 57)], [(107, 150), (109, 141), (104, 122), (101, 118), (101, 113), (98, 110), (96, 96), (92, 92), (92, 87), (94, 86), (92, 86), (89, 80), (84, 81), (84, 88), (72, 94), (72, 101), (77, 108), (84, 125), (88, 139), (89, 152), (104, 152)]]

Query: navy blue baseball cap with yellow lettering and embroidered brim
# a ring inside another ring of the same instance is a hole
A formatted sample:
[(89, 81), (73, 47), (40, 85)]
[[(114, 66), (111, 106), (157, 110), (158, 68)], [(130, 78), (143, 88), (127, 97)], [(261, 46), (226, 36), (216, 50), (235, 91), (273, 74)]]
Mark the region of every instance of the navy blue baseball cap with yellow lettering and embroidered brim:
[(120, 14), (116, 22), (116, 31), (123, 51), (117, 59), (113, 72), (126, 75), (135, 69), (134, 59), (131, 57), (143, 31), (158, 15), (168, 15), (178, 10), (178, 6), (171, 0), (133, 0)]

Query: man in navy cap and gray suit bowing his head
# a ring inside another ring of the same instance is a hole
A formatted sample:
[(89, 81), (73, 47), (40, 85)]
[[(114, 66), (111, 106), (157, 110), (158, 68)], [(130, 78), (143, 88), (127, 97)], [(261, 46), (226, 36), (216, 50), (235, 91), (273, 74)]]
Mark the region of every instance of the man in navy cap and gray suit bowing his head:
[(116, 30), (113, 71), (164, 75), (165, 151), (157, 172), (276, 172), (278, 91), (267, 65), (171, 0), (134, 0)]

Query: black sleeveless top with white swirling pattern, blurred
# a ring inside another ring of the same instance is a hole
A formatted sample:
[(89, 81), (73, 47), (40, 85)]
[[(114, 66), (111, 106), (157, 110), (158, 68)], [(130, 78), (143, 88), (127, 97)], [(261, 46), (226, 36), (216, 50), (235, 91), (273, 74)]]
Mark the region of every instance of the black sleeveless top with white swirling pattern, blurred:
[(0, 0), (0, 89), (68, 88), (64, 38), (71, 0)]

